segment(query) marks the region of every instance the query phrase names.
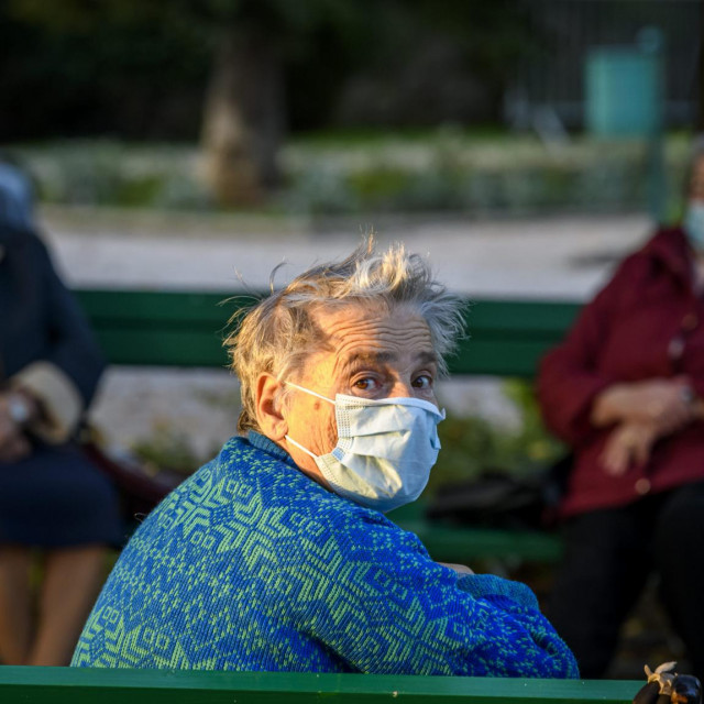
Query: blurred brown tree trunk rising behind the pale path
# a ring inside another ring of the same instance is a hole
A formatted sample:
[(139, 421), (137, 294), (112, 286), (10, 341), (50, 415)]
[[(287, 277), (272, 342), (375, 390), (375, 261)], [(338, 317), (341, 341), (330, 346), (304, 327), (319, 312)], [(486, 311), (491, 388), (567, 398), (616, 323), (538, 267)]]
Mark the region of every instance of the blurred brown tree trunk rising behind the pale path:
[(220, 205), (256, 205), (276, 185), (283, 132), (283, 67), (276, 47), (258, 32), (224, 31), (201, 136), (204, 176)]

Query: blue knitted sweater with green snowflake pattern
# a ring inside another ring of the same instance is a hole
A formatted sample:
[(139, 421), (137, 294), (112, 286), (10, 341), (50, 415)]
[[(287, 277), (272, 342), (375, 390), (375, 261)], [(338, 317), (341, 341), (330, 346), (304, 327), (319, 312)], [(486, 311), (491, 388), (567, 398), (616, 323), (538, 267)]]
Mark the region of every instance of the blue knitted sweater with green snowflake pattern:
[(129, 542), (73, 666), (574, 678), (532, 592), (232, 438)]

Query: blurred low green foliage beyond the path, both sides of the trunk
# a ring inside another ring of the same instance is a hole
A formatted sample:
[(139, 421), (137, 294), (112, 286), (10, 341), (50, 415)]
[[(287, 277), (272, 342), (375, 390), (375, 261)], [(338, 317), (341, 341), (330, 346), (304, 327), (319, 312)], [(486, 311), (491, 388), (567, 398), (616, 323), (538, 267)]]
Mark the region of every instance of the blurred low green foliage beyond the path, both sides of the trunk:
[[(679, 212), (688, 136), (668, 139), (666, 172)], [(75, 205), (213, 209), (195, 146), (63, 141), (15, 147), (42, 198)], [(574, 140), (548, 152), (528, 136), (457, 130), (330, 132), (289, 143), (285, 185), (267, 212), (311, 216), (446, 211), (522, 216), (623, 211), (646, 202), (645, 144)]]

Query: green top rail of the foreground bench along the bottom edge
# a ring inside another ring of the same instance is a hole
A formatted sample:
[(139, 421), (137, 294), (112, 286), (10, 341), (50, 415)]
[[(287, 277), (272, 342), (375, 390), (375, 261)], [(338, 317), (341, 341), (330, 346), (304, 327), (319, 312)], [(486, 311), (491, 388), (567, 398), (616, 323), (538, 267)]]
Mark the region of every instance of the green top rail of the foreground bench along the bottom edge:
[(0, 667), (0, 701), (26, 704), (627, 704), (636, 681)]

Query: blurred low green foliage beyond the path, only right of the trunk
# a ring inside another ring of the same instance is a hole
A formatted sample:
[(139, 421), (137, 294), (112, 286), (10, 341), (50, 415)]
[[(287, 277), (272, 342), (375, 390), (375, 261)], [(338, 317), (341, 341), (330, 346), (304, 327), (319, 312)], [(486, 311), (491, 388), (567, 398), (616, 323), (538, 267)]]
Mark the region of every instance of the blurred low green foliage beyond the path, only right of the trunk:
[[(667, 145), (668, 173), (681, 173), (686, 140)], [(327, 133), (284, 153), (294, 212), (455, 211), (521, 216), (554, 210), (618, 211), (646, 204), (647, 147), (575, 139), (547, 151), (529, 136), (442, 129), (387, 135)], [(324, 173), (324, 177), (322, 174)], [(323, 188), (311, 188), (324, 182)], [(330, 197), (330, 201), (328, 201)]]

